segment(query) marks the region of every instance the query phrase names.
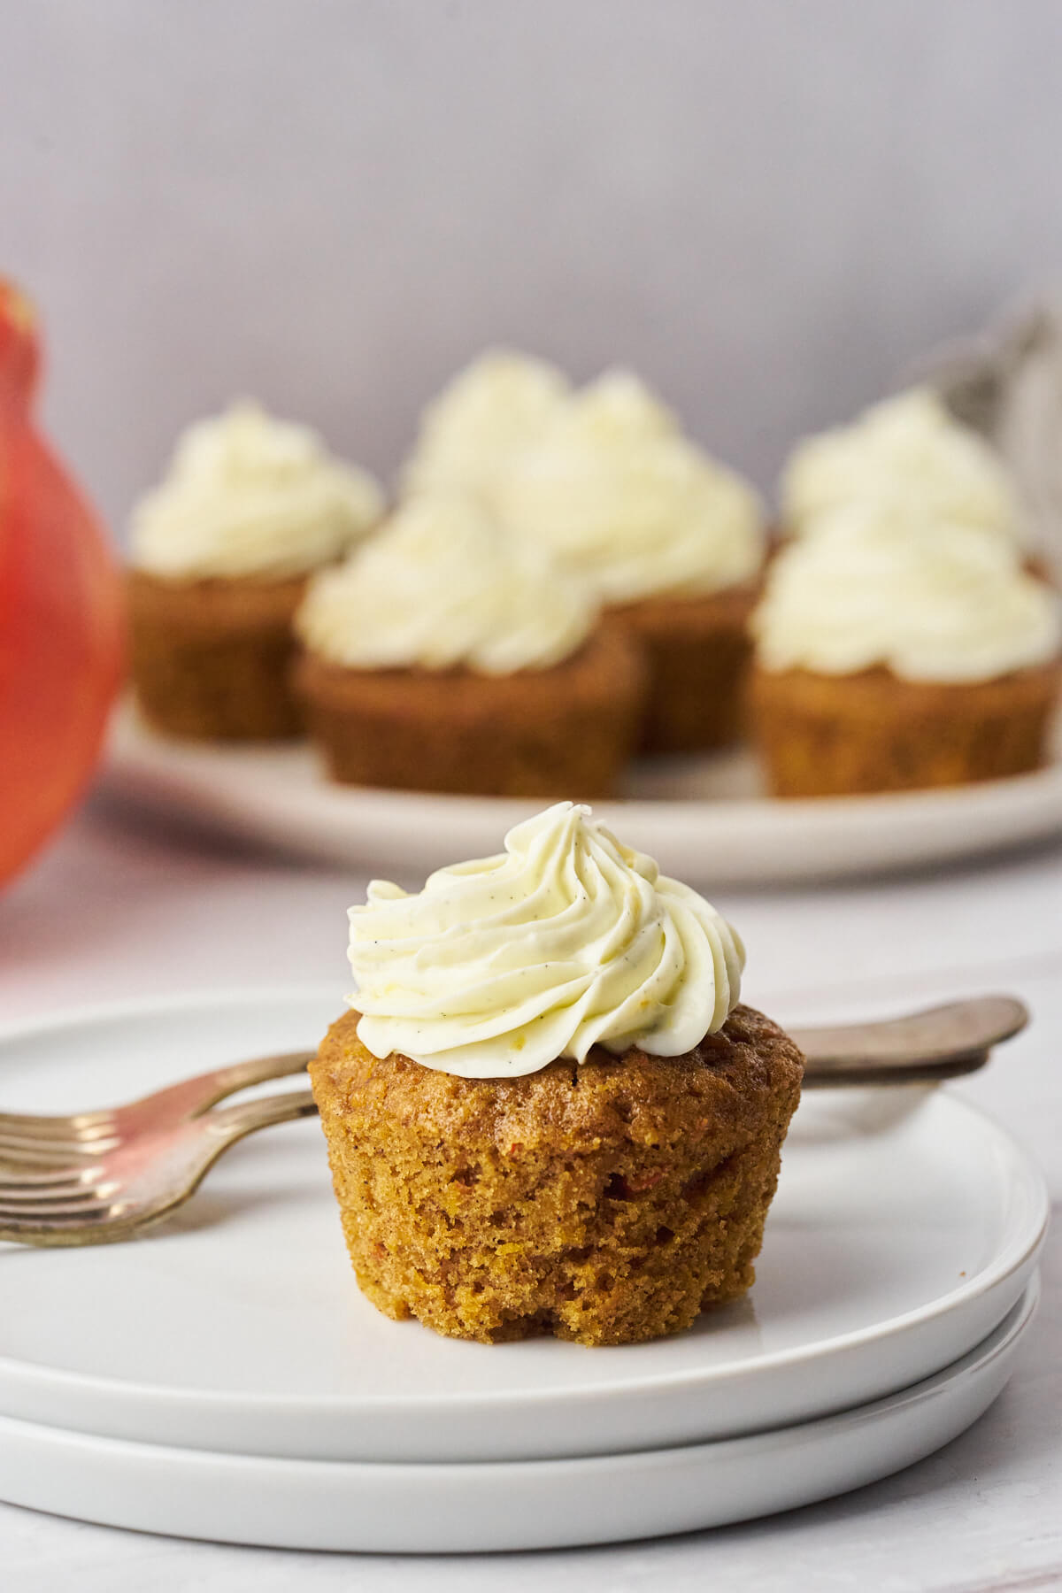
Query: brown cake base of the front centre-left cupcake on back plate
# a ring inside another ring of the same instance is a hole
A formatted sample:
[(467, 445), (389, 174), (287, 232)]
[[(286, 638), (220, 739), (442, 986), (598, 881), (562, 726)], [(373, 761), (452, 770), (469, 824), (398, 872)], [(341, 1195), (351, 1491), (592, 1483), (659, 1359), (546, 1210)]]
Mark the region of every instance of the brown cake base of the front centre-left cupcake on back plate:
[(295, 682), (334, 781), (486, 796), (608, 793), (645, 699), (642, 656), (611, 628), (552, 669), (344, 669), (304, 653)]

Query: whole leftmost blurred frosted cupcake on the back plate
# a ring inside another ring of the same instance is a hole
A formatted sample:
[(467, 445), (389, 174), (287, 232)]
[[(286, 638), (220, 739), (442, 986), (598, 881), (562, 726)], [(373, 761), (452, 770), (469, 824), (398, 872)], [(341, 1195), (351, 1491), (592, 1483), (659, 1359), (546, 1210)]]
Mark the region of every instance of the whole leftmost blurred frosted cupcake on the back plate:
[(382, 511), (376, 481), (252, 403), (193, 425), (132, 516), (132, 682), (174, 736), (293, 736), (291, 618)]

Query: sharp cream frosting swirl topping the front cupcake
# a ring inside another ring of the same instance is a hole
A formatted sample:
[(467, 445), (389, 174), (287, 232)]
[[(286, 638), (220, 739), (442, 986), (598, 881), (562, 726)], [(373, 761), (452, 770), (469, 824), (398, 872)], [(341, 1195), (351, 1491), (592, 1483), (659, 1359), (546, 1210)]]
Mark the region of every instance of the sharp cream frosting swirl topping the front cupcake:
[(465, 1078), (594, 1045), (678, 1056), (726, 1023), (745, 964), (704, 897), (567, 801), (416, 895), (374, 879), (349, 954), (363, 1045)]

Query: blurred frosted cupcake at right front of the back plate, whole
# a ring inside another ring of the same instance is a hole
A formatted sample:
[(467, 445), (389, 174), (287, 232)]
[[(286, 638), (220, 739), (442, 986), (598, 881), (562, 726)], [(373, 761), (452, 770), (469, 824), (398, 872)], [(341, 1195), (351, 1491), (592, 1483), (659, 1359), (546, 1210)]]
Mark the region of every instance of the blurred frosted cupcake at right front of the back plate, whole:
[(772, 562), (752, 628), (777, 796), (959, 785), (1046, 760), (1059, 609), (995, 532), (836, 511)]

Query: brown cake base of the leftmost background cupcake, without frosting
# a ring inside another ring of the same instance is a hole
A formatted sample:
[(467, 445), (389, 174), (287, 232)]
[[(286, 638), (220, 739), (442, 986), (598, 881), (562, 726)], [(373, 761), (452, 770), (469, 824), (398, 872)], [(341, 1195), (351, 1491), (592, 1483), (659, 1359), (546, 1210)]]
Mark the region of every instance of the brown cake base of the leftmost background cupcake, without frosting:
[(127, 575), (129, 667), (143, 717), (170, 736), (298, 736), (291, 620), (306, 578), (164, 581)]

